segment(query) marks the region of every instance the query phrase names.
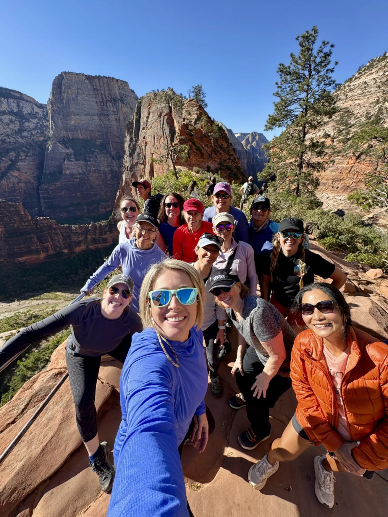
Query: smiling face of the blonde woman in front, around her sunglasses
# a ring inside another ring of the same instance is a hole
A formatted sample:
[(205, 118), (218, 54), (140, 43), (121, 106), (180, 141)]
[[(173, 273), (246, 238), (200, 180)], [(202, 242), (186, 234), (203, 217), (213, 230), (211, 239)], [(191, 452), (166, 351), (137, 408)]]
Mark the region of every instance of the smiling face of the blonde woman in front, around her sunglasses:
[[(194, 287), (184, 271), (165, 269), (157, 278), (152, 291), (158, 289), (180, 289)], [(197, 317), (197, 302), (192, 305), (182, 305), (175, 295), (165, 307), (155, 307), (152, 303), (151, 314), (156, 329), (167, 339), (186, 341), (189, 331), (195, 324)]]

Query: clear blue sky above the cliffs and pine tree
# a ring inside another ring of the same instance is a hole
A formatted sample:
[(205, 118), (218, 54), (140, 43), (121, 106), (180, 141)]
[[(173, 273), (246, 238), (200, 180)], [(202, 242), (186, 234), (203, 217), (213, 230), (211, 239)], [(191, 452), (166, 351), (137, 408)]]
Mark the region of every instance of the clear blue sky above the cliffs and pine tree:
[[(0, 2), (0, 86), (47, 102), (61, 71), (110, 75), (138, 96), (202, 83), (208, 112), (262, 132), (280, 62), (317, 25), (345, 81), (388, 50), (386, 0), (19, 0)], [(384, 36), (385, 35), (385, 36)], [(270, 136), (270, 135), (267, 135)]]

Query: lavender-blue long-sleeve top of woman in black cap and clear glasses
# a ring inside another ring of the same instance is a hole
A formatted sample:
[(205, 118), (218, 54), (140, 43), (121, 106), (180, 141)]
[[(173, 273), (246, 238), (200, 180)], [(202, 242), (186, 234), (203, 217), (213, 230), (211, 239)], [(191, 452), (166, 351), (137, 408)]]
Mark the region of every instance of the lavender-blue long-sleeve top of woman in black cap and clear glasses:
[(128, 242), (122, 242), (116, 246), (110, 257), (93, 273), (81, 291), (88, 291), (94, 287), (121, 264), (124, 275), (131, 277), (135, 284), (131, 309), (139, 312), (140, 287), (145, 273), (152, 264), (164, 260), (166, 255), (156, 244), (150, 250), (140, 250), (135, 246), (135, 241), (136, 239), (132, 238)]

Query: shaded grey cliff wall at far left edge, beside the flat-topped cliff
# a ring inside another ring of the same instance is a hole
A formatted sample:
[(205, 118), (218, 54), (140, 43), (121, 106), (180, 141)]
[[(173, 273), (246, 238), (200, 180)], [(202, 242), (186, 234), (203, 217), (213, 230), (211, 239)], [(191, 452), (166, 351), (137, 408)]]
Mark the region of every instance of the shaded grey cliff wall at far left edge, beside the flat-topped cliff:
[(47, 105), (0, 87), (0, 199), (41, 215), (39, 185), (49, 139)]

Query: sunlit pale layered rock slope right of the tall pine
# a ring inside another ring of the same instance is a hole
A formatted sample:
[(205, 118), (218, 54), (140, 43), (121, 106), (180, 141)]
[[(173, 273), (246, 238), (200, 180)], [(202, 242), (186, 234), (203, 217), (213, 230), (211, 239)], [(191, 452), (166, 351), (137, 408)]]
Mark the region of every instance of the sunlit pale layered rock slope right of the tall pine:
[(343, 142), (376, 115), (388, 126), (388, 54), (371, 59), (335, 92), (338, 113), (327, 121), (321, 135), (329, 144), (325, 171), (319, 174), (319, 192), (344, 197), (364, 186), (365, 174), (376, 166), (374, 160), (354, 153)]

